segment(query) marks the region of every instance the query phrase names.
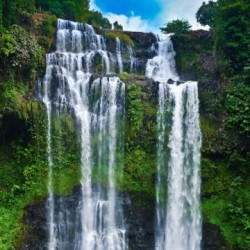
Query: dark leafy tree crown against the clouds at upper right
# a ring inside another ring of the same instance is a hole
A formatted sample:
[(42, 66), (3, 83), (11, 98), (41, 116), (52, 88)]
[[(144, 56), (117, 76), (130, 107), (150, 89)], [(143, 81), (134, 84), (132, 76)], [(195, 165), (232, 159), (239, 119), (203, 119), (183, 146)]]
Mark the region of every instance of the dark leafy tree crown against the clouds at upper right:
[(203, 2), (195, 15), (197, 22), (203, 26), (209, 25), (211, 27), (213, 25), (217, 9), (217, 2), (209, 1), (207, 4)]

